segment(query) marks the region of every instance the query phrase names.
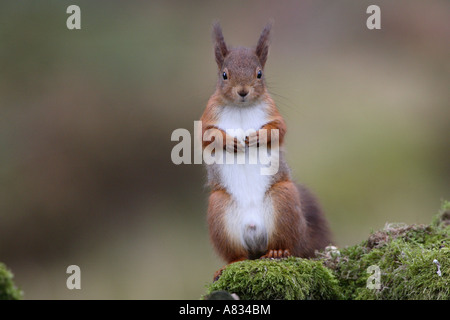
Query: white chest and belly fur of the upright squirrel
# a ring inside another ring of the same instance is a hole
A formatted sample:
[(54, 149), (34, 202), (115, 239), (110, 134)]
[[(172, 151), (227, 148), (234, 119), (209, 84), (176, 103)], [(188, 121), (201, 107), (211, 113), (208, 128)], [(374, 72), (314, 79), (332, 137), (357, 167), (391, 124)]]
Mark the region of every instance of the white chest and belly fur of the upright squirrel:
[[(268, 122), (266, 108), (266, 105), (225, 107), (217, 126), (224, 131), (234, 129), (229, 132), (243, 141), (245, 132), (256, 131)], [(265, 197), (271, 177), (261, 174), (262, 166), (248, 161), (217, 165), (221, 182), (234, 200), (225, 217), (227, 232), (250, 252), (264, 252), (273, 229), (272, 204)]]

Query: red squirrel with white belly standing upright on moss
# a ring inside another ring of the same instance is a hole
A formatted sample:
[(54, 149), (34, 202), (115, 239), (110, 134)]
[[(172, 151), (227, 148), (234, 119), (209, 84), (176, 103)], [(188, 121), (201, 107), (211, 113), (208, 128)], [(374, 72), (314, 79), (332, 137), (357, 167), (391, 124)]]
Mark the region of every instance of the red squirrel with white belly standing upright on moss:
[[(269, 22), (256, 48), (231, 48), (219, 23), (213, 25), (218, 81), (200, 119), (202, 149), (213, 144), (236, 155), (265, 142), (270, 151), (276, 137), (272, 137), (272, 129), (278, 131), (279, 144), (279, 169), (272, 176), (261, 174), (261, 163), (206, 165), (211, 189), (207, 212), (210, 239), (228, 264), (258, 258), (313, 257), (316, 250), (331, 243), (318, 201), (306, 187), (293, 182), (284, 159), (286, 123), (267, 91), (264, 76), (271, 28)], [(242, 134), (249, 129), (255, 134)], [(264, 130), (266, 140), (260, 141)], [(211, 132), (214, 137), (208, 135)]]

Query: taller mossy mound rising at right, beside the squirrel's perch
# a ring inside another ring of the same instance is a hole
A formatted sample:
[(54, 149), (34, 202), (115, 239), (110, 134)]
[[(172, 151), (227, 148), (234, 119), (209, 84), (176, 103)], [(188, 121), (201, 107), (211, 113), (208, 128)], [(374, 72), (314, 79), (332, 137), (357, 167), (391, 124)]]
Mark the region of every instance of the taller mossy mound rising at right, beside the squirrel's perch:
[[(445, 202), (431, 225), (388, 224), (337, 259), (325, 258), (347, 299), (450, 299), (448, 207)], [(369, 266), (379, 267), (379, 289), (367, 286)]]

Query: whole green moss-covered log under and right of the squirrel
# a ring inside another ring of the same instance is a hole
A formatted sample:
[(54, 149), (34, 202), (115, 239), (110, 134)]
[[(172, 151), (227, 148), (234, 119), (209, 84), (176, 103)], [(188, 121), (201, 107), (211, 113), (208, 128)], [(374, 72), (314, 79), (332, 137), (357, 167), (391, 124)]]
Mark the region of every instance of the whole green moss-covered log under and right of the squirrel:
[(227, 266), (203, 298), (450, 299), (450, 202), (429, 225), (387, 224), (366, 241), (314, 259), (246, 260)]

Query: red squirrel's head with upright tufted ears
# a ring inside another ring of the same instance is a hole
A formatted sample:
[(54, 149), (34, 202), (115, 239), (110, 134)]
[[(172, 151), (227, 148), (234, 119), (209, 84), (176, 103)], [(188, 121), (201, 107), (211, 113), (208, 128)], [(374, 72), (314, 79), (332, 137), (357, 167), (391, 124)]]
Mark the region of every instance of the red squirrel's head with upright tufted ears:
[(222, 29), (214, 24), (214, 53), (219, 67), (217, 88), (222, 97), (235, 105), (258, 102), (265, 93), (264, 65), (269, 53), (269, 22), (259, 37), (256, 48), (228, 48)]

